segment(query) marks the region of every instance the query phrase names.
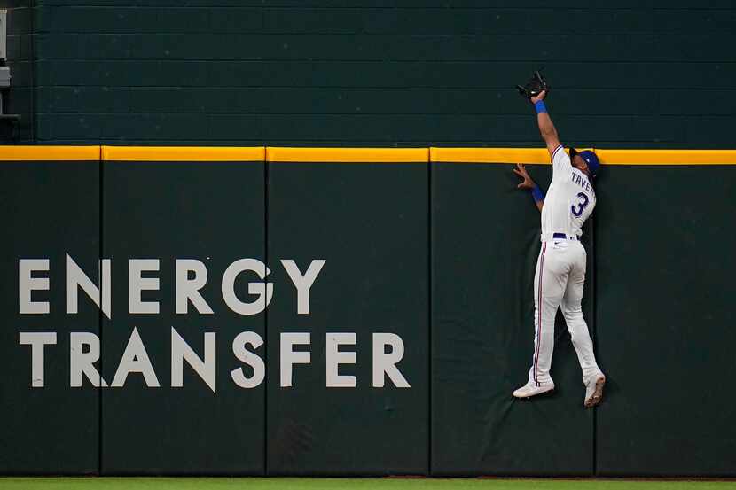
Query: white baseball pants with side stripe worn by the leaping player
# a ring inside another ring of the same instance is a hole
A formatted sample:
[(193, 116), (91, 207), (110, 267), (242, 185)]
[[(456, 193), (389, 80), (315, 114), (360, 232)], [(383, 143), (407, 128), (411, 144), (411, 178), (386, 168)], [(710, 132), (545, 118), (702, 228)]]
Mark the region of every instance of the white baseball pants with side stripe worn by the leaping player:
[(534, 276), (534, 359), (529, 369), (529, 384), (552, 384), (550, 366), (554, 349), (554, 316), (558, 307), (562, 308), (583, 369), (583, 385), (601, 372), (581, 307), (585, 256), (583, 244), (576, 240), (555, 239), (542, 243)]

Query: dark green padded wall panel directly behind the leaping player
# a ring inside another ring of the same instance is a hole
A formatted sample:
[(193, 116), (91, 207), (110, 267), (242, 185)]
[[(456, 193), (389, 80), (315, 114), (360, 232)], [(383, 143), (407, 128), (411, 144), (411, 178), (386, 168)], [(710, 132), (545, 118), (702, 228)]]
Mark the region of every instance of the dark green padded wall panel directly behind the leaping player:
[[(583, 409), (580, 366), (560, 314), (556, 392), (512, 397), (527, 382), (534, 349), (534, 202), (516, 189), (510, 165), (432, 165), (432, 474), (591, 475), (593, 413)], [(529, 172), (548, 187), (550, 167)], [(590, 250), (589, 239), (583, 245)], [(592, 333), (591, 303), (586, 284)]]

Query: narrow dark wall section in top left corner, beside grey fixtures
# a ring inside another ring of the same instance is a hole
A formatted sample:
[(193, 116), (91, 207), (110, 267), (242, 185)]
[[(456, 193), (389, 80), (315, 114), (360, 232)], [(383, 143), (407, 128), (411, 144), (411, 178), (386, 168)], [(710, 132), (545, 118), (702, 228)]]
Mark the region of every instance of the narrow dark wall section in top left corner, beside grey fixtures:
[(11, 87), (6, 91), (4, 113), (20, 114), (13, 129), (9, 122), (0, 122), (0, 144), (23, 144), (34, 140), (34, 70), (33, 14), (29, 0), (4, 4), (8, 10), (6, 66), (11, 69)]

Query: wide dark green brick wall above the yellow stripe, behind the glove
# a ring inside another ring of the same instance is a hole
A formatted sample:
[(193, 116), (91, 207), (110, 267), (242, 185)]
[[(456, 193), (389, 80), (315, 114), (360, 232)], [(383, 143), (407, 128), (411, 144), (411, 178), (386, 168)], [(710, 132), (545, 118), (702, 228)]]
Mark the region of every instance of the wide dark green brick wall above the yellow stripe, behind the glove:
[(733, 146), (729, 0), (38, 4), (43, 143)]

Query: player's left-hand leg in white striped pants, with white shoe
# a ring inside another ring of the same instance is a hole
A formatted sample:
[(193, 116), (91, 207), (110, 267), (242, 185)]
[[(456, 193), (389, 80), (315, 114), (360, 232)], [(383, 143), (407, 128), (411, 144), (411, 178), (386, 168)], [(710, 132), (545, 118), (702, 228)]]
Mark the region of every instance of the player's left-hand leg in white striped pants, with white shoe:
[(544, 242), (534, 276), (534, 354), (527, 385), (514, 392), (518, 398), (551, 391), (550, 376), (554, 350), (554, 316), (560, 307), (568, 276), (564, 250)]

